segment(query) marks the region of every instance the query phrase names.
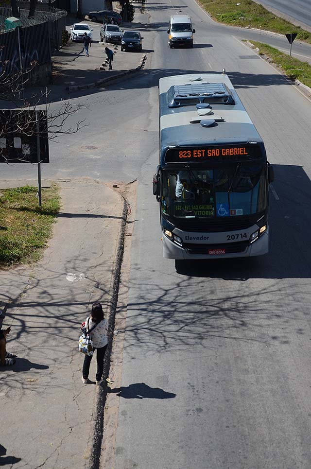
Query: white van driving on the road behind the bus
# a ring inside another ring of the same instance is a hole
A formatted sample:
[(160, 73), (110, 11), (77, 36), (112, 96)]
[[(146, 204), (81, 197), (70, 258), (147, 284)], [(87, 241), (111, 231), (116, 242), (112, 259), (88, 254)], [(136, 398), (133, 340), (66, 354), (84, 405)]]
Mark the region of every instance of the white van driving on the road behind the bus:
[(169, 45), (173, 49), (175, 46), (193, 47), (193, 33), (191, 18), (186, 15), (172, 16), (167, 30), (169, 34)]

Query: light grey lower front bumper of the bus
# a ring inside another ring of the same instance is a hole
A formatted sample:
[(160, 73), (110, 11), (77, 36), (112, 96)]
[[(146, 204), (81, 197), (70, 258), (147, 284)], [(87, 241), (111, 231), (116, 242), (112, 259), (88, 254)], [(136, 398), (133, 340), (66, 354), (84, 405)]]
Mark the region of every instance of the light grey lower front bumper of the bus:
[[(187, 249), (178, 246), (173, 241), (163, 236), (163, 257), (165, 259), (232, 259), (240, 257), (262, 256), (269, 251), (269, 228), (260, 236), (260, 238), (252, 244), (249, 244), (243, 252), (230, 254), (208, 254), (208, 244), (206, 244), (206, 254), (190, 254)], [(225, 244), (224, 244), (225, 247)]]

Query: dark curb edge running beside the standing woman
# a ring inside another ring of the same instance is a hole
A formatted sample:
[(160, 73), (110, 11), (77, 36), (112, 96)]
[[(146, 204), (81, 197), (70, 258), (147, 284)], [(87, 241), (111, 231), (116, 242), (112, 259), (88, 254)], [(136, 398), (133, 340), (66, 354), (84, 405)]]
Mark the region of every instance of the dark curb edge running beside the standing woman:
[[(126, 73), (127, 74), (127, 73)], [(115, 267), (112, 274), (112, 297), (110, 302), (110, 312), (109, 312), (109, 326), (108, 326), (108, 346), (105, 354), (104, 361), (104, 376), (109, 376), (110, 368), (110, 357), (112, 350), (113, 342), (113, 330), (115, 325), (115, 316), (118, 305), (118, 295), (119, 295), (119, 285), (121, 278), (121, 265), (123, 261), (123, 252), (124, 252), (124, 237), (125, 237), (125, 227), (127, 219), (127, 203), (123, 197), (123, 211), (121, 219), (121, 229), (119, 234), (117, 256), (115, 260)], [(107, 386), (96, 386), (95, 402), (94, 402), (94, 418), (93, 418), (93, 428), (91, 429), (91, 453), (89, 460), (86, 463), (87, 469), (99, 469), (100, 466), (100, 457), (104, 433), (104, 406), (107, 396)]]

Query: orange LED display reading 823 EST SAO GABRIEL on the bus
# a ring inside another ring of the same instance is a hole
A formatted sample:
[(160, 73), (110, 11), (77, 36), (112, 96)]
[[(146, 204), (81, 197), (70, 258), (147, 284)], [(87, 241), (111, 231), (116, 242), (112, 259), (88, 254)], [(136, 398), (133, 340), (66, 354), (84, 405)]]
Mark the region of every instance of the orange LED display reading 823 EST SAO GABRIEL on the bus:
[(215, 146), (199, 148), (170, 148), (165, 155), (167, 163), (184, 161), (224, 161), (259, 158), (261, 151), (257, 145)]

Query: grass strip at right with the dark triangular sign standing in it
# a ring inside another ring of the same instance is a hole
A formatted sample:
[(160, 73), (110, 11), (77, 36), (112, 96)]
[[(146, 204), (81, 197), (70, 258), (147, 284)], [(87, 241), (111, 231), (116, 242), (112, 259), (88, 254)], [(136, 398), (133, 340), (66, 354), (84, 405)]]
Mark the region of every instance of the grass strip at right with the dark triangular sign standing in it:
[(248, 41), (259, 49), (259, 55), (267, 55), (273, 62), (284, 70), (285, 74), (293, 80), (298, 79), (304, 85), (311, 87), (311, 65), (308, 62), (301, 62), (294, 57), (290, 57), (284, 52), (280, 52), (268, 44), (257, 41)]

